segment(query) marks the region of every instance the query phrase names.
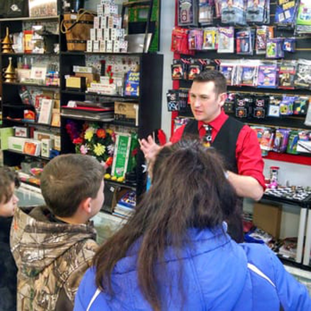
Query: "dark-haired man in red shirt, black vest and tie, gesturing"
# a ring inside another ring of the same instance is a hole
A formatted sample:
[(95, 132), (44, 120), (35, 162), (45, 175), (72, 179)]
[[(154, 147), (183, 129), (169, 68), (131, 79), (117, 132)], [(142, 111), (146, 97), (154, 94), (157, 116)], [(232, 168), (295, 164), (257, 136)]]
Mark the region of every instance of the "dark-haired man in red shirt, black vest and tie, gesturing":
[[(222, 73), (214, 70), (201, 72), (190, 89), (190, 105), (195, 119), (177, 129), (170, 141), (175, 143), (182, 138), (194, 137), (214, 147), (224, 159), (228, 180), (237, 194), (259, 200), (265, 184), (257, 135), (249, 126), (223, 112), (226, 98), (227, 85)], [(153, 161), (160, 148), (151, 136), (141, 141), (141, 150), (147, 161)]]

